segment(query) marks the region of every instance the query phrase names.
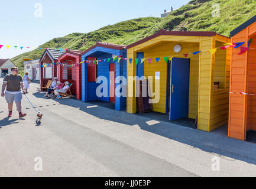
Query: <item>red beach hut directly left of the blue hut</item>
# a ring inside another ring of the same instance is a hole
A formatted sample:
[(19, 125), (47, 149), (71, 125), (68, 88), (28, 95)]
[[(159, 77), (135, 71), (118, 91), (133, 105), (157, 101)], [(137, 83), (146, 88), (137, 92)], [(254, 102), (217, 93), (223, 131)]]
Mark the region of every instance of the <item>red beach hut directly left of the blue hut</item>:
[(83, 51), (67, 50), (59, 57), (58, 79), (61, 83), (72, 83), (71, 93), (76, 95), (77, 100), (81, 100), (81, 55)]

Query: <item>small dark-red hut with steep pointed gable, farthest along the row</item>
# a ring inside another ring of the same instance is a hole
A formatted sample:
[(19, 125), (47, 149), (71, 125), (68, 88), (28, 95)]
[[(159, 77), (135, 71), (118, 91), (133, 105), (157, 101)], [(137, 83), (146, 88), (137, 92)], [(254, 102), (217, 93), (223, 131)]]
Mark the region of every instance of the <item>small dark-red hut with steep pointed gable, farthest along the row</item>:
[(39, 60), (40, 67), (40, 89), (46, 86), (48, 80), (58, 76), (57, 62), (59, 56), (65, 53), (63, 50), (47, 48)]

